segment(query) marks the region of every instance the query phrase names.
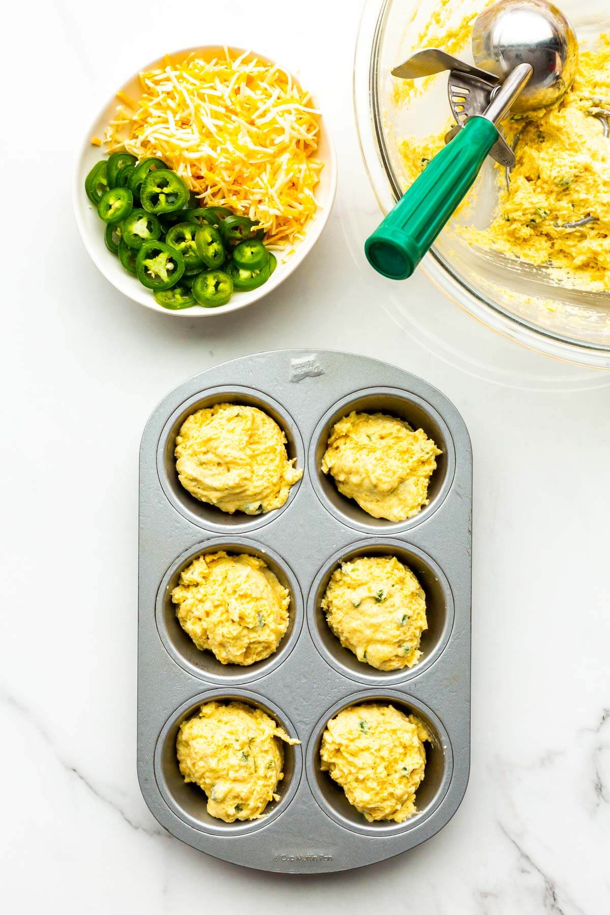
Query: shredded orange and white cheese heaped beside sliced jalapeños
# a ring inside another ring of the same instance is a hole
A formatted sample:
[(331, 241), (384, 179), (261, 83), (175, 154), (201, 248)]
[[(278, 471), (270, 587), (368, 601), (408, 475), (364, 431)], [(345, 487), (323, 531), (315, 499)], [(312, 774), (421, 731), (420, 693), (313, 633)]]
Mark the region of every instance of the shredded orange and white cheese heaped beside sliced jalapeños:
[(122, 105), (104, 140), (111, 152), (160, 156), (205, 206), (258, 221), (266, 242), (292, 246), (316, 212), (323, 167), (314, 154), (319, 112), (285, 70), (251, 54), (179, 63), (140, 73), (142, 96)]

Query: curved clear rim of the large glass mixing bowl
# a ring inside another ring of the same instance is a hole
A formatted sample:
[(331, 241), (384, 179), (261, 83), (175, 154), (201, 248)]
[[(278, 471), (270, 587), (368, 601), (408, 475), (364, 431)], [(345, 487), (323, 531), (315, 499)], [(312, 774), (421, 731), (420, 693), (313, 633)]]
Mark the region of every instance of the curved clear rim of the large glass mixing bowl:
[[(387, 13), (393, 2), (394, 0), (364, 0), (353, 78), (354, 111), (360, 154), (369, 183), (384, 214), (391, 210), (401, 196), (401, 189), (392, 180), (385, 143), (377, 129), (377, 124), (380, 123), (377, 51), (385, 31)], [(609, 348), (603, 344), (553, 334), (505, 311), (492, 299), (471, 289), (462, 277), (455, 274), (434, 246), (423, 257), (420, 268), (444, 296), (501, 337), (560, 361), (594, 369), (610, 369)]]

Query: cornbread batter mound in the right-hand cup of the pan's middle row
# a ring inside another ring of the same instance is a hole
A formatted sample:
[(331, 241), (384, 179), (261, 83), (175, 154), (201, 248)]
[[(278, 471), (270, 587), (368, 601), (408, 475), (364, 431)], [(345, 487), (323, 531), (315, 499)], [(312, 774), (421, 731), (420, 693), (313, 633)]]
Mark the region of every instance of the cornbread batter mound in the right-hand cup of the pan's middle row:
[(342, 563), (322, 598), (326, 621), (359, 661), (380, 671), (412, 667), (428, 628), (422, 587), (395, 556)]

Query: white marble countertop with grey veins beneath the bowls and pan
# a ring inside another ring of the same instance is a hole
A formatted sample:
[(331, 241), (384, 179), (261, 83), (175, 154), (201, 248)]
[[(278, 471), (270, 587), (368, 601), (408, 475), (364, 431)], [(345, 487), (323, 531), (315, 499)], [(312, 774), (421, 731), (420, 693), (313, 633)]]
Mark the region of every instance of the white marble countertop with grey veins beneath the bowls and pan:
[[(5, 10), (7, 911), (609, 910), (610, 374), (499, 339), (421, 274), (392, 285), (366, 266), (361, 246), (379, 214), (352, 118), (359, 8), (310, 0), (305, 17), (294, 2), (233, 0), (181, 14), (162, 0), (33, 0)], [(214, 40), (292, 62), (322, 88), (337, 203), (306, 266), (260, 305), (172, 320), (123, 298), (89, 261), (71, 211), (73, 159), (134, 67)], [(188, 375), (295, 346), (423, 375), (464, 415), (475, 455), (466, 798), (425, 845), (324, 877), (266, 875), (181, 845), (155, 823), (135, 774), (144, 422)]]

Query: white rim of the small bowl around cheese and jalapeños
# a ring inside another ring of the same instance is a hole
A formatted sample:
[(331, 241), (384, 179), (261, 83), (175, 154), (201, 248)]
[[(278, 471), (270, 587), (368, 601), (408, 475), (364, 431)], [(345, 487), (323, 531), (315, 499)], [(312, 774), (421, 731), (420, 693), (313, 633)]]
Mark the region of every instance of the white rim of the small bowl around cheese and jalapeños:
[[(89, 123), (87, 131), (84, 133), (83, 140), (78, 146), (73, 166), (73, 178), (72, 178), (72, 209), (74, 212), (74, 218), (79, 230), (80, 239), (85, 247), (86, 252), (89, 254), (91, 261), (98, 268), (102, 276), (119, 292), (123, 293), (123, 296), (131, 299), (133, 302), (138, 305), (150, 308), (152, 311), (155, 311), (157, 314), (163, 314), (173, 318), (212, 318), (219, 315), (227, 315), (234, 311), (239, 311), (241, 308), (248, 307), (253, 305), (255, 302), (259, 302), (264, 296), (268, 296), (272, 293), (278, 286), (284, 283), (284, 280), (288, 278), (291, 274), (294, 273), (294, 270), (305, 260), (307, 254), (312, 250), (317, 240), (321, 236), (322, 232), (326, 227), (326, 223), (330, 217), (330, 213), (333, 209), (335, 198), (337, 196), (337, 151), (335, 148), (335, 143), (331, 135), (330, 130), (326, 125), (326, 117), (324, 114), (320, 115), (320, 143), (319, 145), (326, 146), (326, 155), (323, 158), (324, 169), (323, 174), (327, 175), (327, 192), (326, 200), (321, 203), (317, 200), (317, 210), (314, 216), (306, 223), (305, 225), (305, 235), (301, 242), (298, 242), (294, 246), (294, 252), (289, 253), (286, 260), (282, 261), (278, 257), (277, 268), (273, 273), (273, 276), (262, 286), (259, 286), (258, 289), (253, 289), (250, 292), (240, 291), (237, 295), (232, 296), (230, 302), (227, 305), (216, 307), (216, 308), (205, 308), (202, 306), (194, 306), (191, 308), (185, 308), (183, 310), (172, 311), (171, 309), (164, 308), (160, 306), (156, 301), (155, 297), (151, 290), (146, 289), (143, 285), (137, 283), (135, 277), (132, 277), (130, 274), (125, 273), (121, 277), (123, 283), (115, 282), (115, 279), (112, 278), (112, 272), (106, 268), (107, 251), (103, 231), (100, 233), (99, 238), (94, 237), (94, 233), (90, 231), (90, 228), (86, 224), (85, 220), (85, 208), (91, 209), (91, 201), (84, 195), (83, 192), (83, 163), (87, 153), (94, 149), (95, 147), (91, 145), (91, 136), (95, 135), (95, 131), (98, 128), (99, 122), (104, 117), (104, 114), (108, 109), (112, 107), (116, 99), (116, 93), (120, 92), (124, 87), (134, 79), (134, 77), (141, 72), (142, 70), (148, 70), (154, 67), (156, 64), (160, 63), (166, 56), (171, 58), (179, 56), (187, 56), (188, 54), (195, 51), (202, 51), (210, 48), (228, 48), (231, 52), (236, 51), (238, 53), (243, 53), (246, 51), (246, 48), (239, 48), (231, 44), (221, 44), (219, 42), (196, 45), (190, 48), (178, 48), (177, 50), (167, 51), (166, 54), (163, 54), (160, 57), (156, 57), (154, 60), (145, 63), (138, 70), (134, 70), (132, 75), (126, 80), (123, 80), (121, 86), (118, 89), (115, 89), (112, 96), (108, 99), (107, 102), (102, 104), (101, 109), (95, 115), (95, 117)], [(269, 63), (272, 63), (276, 66), (281, 67), (287, 73), (289, 73), (295, 81), (299, 81), (292, 70), (287, 67), (284, 67), (284, 64), (276, 59), (269, 57), (264, 53), (259, 53), (256, 50), (250, 49), (247, 53), (252, 54), (254, 57), (261, 58)], [(308, 81), (309, 83), (309, 81)], [(311, 95), (312, 101), (316, 105), (316, 108), (319, 110), (317, 105), (317, 88), (313, 90), (310, 88), (309, 84), (307, 86), (307, 91)], [(102, 146), (98, 147), (102, 155), (107, 155), (105, 152), (102, 152)], [(84, 172), (86, 174), (86, 171)], [(319, 189), (316, 188), (316, 190)], [(108, 262), (110, 263), (110, 262)], [(134, 281), (134, 282), (132, 282)], [(135, 285), (137, 283), (137, 285)]]

